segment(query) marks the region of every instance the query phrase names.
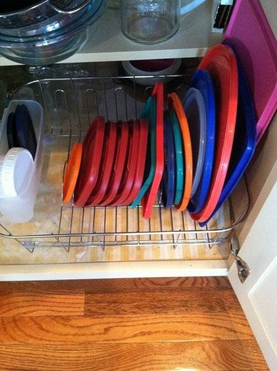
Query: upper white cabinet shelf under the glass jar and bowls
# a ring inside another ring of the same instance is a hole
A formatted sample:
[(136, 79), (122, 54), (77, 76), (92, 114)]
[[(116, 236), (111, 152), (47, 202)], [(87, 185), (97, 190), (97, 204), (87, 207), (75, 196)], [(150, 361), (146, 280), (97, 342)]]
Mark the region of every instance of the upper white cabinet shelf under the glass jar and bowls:
[[(155, 45), (143, 45), (128, 40), (121, 32), (119, 12), (106, 9), (96, 22), (94, 33), (83, 49), (62, 62), (201, 57), (208, 48), (222, 41), (221, 33), (211, 32), (211, 7), (212, 1), (209, 0), (182, 16), (179, 31), (168, 41)], [(0, 57), (0, 66), (15, 64)]]

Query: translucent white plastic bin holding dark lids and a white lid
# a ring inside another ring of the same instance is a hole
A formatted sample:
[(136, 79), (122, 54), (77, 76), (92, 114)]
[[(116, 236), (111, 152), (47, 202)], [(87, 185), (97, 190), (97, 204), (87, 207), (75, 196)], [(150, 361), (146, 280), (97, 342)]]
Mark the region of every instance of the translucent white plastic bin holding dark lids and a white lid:
[(16, 197), (0, 197), (0, 212), (11, 223), (25, 223), (33, 218), (43, 160), (43, 108), (35, 101), (11, 101), (8, 108), (5, 109), (0, 126), (0, 155), (5, 155), (8, 152), (7, 120), (9, 114), (15, 112), (19, 104), (25, 104), (30, 112), (35, 129), (37, 149), (33, 170), (23, 192)]

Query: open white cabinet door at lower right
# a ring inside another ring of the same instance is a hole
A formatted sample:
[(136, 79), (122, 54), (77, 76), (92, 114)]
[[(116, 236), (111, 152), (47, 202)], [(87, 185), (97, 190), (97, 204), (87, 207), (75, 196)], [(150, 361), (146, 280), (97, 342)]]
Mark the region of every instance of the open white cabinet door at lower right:
[(234, 262), (229, 280), (271, 370), (277, 370), (277, 183), (240, 249), (250, 275), (242, 284)]

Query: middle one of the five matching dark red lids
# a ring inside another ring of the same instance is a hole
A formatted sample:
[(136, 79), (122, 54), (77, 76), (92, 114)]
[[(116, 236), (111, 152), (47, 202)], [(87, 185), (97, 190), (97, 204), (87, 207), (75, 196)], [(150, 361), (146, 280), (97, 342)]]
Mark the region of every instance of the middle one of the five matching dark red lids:
[(109, 185), (105, 194), (105, 198), (101, 201), (101, 206), (109, 205), (118, 192), (121, 185), (122, 174), (125, 168), (126, 154), (128, 147), (129, 127), (127, 122), (117, 122), (117, 141), (116, 141), (116, 153), (115, 161), (113, 164), (113, 170), (111, 173)]

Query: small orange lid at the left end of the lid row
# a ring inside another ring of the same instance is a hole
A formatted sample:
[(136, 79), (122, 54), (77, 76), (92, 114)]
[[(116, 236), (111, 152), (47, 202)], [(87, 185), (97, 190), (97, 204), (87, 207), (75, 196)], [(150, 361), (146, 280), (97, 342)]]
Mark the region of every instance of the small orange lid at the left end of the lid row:
[(73, 196), (74, 188), (77, 183), (78, 174), (82, 161), (83, 144), (75, 143), (70, 153), (63, 185), (63, 201), (69, 202)]

